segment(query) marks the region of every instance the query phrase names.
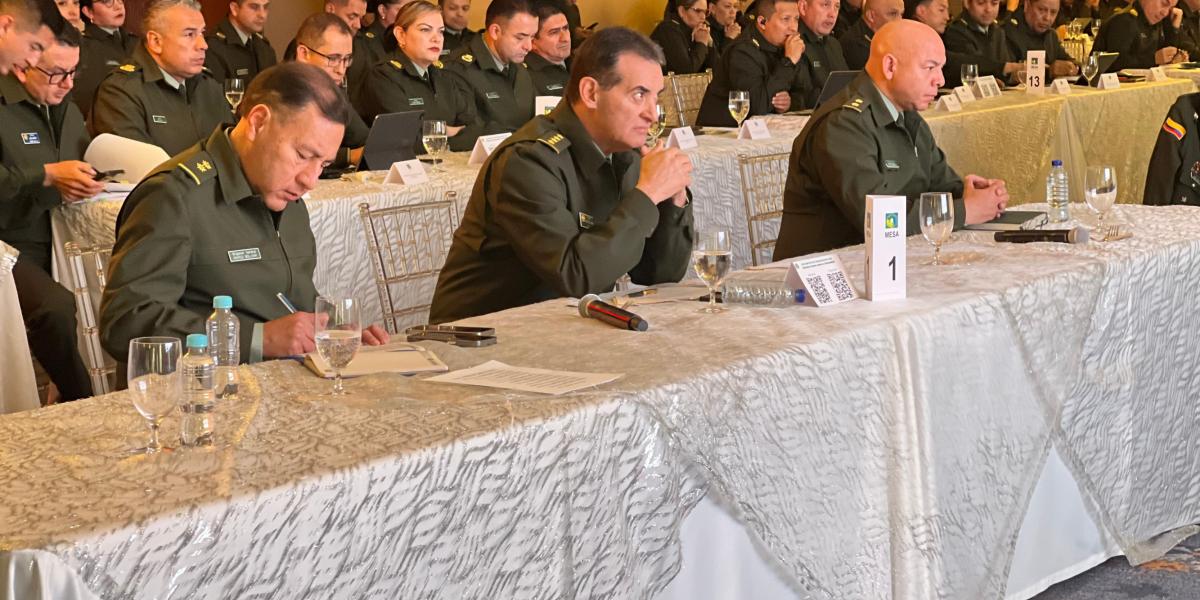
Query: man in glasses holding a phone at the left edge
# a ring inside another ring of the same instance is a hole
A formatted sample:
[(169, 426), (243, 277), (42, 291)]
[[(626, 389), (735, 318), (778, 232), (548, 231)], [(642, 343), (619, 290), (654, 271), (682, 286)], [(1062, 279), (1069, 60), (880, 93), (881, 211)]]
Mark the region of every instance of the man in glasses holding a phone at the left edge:
[(91, 137), (70, 94), (79, 32), (62, 28), (36, 67), (0, 77), (0, 240), (20, 251), (13, 282), (29, 347), (62, 400), (91, 396), (76, 340), (74, 295), (50, 277), (50, 210), (98, 193), (80, 162)]

